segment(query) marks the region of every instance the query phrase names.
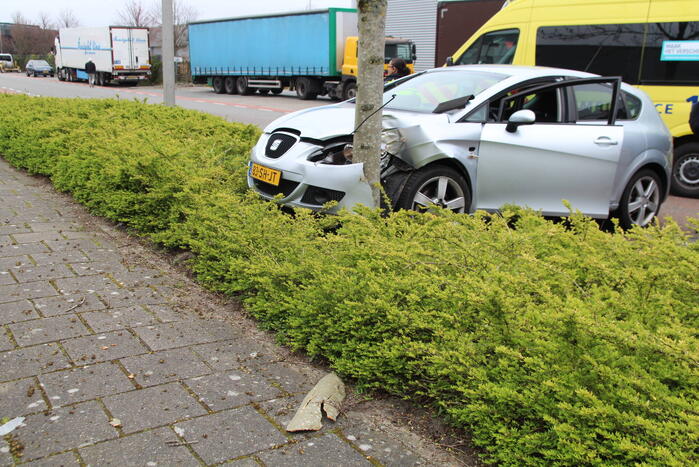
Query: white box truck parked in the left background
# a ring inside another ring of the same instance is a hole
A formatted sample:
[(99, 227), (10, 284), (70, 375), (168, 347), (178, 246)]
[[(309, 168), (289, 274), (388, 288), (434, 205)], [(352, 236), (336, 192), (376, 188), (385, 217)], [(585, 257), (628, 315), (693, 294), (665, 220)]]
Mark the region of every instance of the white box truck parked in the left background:
[(97, 85), (134, 83), (151, 74), (148, 29), (122, 26), (61, 29), (56, 37), (56, 74), (61, 81), (87, 80), (92, 60)]

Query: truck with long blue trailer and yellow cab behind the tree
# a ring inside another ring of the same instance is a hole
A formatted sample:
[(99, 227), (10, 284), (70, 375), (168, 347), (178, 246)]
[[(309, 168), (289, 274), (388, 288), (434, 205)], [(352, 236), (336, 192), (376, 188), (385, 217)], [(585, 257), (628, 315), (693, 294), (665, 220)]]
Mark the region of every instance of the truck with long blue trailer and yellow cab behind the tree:
[[(288, 87), (301, 99), (349, 99), (357, 93), (357, 34), (351, 8), (193, 22), (192, 79), (219, 94), (279, 94)], [(396, 57), (412, 71), (415, 45), (387, 37), (385, 64)]]

